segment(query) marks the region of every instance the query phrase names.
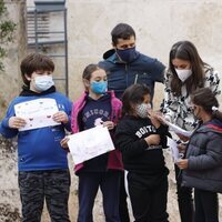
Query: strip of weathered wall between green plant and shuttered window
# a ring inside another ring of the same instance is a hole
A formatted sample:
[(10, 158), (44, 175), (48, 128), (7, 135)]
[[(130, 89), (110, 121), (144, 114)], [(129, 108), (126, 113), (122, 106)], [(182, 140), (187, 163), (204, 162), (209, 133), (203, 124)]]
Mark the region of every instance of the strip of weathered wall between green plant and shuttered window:
[(8, 54), (3, 60), (4, 70), (0, 71), (0, 119), (9, 102), (18, 95), (21, 85), (19, 63), (27, 50), (26, 0), (7, 0), (8, 18), (17, 24), (13, 42), (4, 46)]

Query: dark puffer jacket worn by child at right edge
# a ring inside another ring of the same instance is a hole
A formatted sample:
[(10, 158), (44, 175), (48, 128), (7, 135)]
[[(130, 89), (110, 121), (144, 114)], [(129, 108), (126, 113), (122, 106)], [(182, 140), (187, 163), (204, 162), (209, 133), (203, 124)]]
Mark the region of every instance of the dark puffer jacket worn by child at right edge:
[(213, 119), (191, 137), (182, 185), (222, 193), (222, 122)]

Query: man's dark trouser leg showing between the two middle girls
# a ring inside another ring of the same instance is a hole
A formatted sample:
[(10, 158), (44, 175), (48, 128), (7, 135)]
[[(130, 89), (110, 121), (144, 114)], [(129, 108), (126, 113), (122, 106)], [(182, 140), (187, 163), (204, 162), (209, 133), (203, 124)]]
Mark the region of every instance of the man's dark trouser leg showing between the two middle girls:
[(120, 204), (119, 204), (120, 221), (121, 222), (130, 222), (130, 215), (129, 215), (129, 211), (128, 211), (127, 198), (128, 198), (128, 194), (125, 192), (125, 186), (124, 186), (124, 172), (121, 172), (121, 179), (120, 179)]

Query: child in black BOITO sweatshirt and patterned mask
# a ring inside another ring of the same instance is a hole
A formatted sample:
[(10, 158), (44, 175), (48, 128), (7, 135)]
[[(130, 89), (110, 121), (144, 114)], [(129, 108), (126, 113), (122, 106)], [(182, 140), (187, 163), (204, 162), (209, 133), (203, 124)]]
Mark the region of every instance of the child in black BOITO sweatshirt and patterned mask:
[(135, 222), (168, 222), (168, 173), (162, 149), (168, 128), (151, 110), (150, 90), (129, 87), (122, 95), (122, 114), (115, 140), (122, 152), (127, 190)]

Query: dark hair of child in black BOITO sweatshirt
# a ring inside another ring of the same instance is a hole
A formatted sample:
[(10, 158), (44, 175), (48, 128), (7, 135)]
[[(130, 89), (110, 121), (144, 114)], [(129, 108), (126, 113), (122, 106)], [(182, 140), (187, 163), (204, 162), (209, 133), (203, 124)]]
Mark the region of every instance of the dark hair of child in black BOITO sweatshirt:
[(144, 95), (150, 94), (145, 84), (132, 84), (122, 94), (122, 115), (133, 113), (133, 105), (143, 102)]

